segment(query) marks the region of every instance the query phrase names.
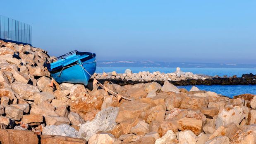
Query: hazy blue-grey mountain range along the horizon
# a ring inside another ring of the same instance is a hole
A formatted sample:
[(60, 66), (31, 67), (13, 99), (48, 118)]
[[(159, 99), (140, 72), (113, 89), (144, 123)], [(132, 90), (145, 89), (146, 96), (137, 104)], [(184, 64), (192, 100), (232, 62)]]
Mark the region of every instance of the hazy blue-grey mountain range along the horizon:
[(236, 63), (178, 63), (155, 61), (98, 61), (100, 67), (198, 67), (198, 68), (256, 68), (256, 64)]

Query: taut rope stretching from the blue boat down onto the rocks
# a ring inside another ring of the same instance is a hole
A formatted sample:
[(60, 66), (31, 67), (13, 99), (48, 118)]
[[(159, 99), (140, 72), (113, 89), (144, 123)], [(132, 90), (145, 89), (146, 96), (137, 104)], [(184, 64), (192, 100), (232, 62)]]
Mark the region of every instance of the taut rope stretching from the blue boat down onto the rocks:
[(130, 98), (126, 98), (122, 95), (119, 95), (117, 93), (115, 93), (114, 91), (110, 90), (109, 88), (107, 88), (106, 86), (104, 86), (103, 84), (100, 84), (99, 81), (97, 81), (97, 79), (95, 77), (93, 77), (81, 64), (77, 63), (80, 67), (82, 67), (84, 69), (84, 71), (87, 72), (87, 74), (89, 74), (92, 78), (93, 78), (93, 84), (96, 84), (97, 86), (100, 86), (101, 88), (103, 88), (105, 91), (108, 91), (109, 93), (111, 93), (112, 95), (114, 95), (115, 97), (117, 97), (117, 100), (119, 101), (121, 98), (125, 99), (125, 100), (133, 100)]

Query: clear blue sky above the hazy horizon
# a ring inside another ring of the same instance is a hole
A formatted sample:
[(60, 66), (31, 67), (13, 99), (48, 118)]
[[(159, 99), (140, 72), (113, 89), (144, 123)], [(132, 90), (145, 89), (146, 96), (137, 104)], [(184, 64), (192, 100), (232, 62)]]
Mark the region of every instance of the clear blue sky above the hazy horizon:
[(255, 0), (3, 0), (32, 45), (98, 60), (256, 63)]

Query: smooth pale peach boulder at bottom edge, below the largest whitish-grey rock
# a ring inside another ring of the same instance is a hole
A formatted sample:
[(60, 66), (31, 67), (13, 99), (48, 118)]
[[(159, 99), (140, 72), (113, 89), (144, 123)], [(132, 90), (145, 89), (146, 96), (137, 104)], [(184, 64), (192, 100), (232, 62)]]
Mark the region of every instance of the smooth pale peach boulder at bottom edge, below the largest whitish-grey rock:
[(115, 142), (114, 135), (107, 132), (100, 132), (91, 136), (88, 144), (113, 144)]

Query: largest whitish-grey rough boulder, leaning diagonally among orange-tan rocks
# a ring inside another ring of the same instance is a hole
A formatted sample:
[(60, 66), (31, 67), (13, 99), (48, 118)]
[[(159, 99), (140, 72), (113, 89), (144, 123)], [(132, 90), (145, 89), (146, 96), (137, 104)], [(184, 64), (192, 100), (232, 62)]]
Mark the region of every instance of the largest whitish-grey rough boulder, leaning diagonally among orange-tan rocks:
[(96, 114), (92, 121), (87, 121), (81, 125), (79, 129), (79, 136), (89, 140), (90, 137), (99, 131), (106, 132), (112, 130), (117, 125), (115, 118), (117, 117), (119, 108), (108, 107)]

